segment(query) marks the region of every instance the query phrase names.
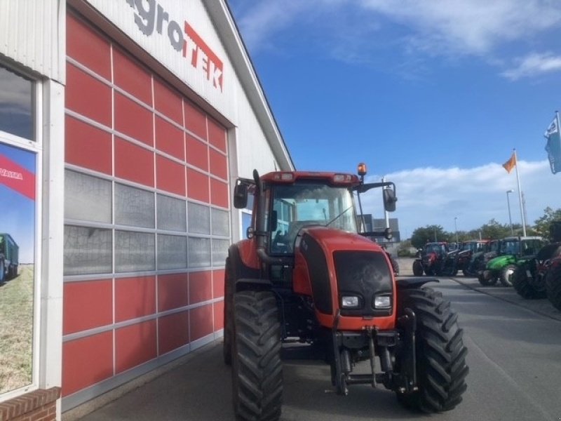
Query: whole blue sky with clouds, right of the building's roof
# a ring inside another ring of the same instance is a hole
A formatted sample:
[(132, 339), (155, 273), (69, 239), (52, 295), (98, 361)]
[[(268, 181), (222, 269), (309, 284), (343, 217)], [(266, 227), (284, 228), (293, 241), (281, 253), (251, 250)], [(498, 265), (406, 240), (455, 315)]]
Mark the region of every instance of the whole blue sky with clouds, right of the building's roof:
[[(561, 109), (561, 6), (547, 0), (229, 0), (298, 169), (396, 182), (402, 235), (530, 224), (561, 208), (543, 133)], [(383, 217), (379, 196), (365, 212)]]

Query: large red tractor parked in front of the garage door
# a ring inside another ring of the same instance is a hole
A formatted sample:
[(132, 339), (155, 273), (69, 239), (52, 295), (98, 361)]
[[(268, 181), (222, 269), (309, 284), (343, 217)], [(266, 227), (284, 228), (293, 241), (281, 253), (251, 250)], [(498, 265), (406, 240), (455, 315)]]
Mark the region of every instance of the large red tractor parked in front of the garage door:
[[(358, 233), (355, 195), (360, 206), (361, 193), (381, 187), (388, 211), (397, 200), (393, 182), (365, 183), (363, 164), (358, 174), (254, 171), (236, 182), (236, 208), (253, 196), (248, 239), (229, 248), (224, 282), (237, 420), (278, 420), (280, 351), (290, 342), (330, 365), (338, 394), (381, 384), (428, 413), (461, 402), (468, 366), (457, 314), (424, 286), (435, 279), (396, 279), (384, 250), (365, 238), (379, 233)], [(370, 373), (353, 373), (361, 362)]]

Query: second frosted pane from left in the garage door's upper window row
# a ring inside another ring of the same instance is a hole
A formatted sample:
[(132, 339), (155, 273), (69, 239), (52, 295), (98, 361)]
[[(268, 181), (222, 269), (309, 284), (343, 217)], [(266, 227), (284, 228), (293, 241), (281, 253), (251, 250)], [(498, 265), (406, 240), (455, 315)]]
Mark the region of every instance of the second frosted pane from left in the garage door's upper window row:
[(115, 184), (115, 223), (154, 228), (154, 193)]

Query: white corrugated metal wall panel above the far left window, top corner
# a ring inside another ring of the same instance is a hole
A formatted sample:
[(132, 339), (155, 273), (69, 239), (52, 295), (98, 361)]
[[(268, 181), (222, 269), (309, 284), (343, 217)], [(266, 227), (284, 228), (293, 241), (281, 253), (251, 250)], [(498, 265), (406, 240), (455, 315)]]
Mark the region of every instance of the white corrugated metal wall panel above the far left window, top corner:
[(65, 0), (1, 0), (0, 53), (65, 83)]

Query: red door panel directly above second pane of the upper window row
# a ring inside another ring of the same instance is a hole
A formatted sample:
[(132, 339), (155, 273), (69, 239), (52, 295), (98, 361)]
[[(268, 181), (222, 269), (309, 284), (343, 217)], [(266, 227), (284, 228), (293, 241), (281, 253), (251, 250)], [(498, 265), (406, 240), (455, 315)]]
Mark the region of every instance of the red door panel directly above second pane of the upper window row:
[(154, 153), (115, 138), (115, 176), (154, 187)]

